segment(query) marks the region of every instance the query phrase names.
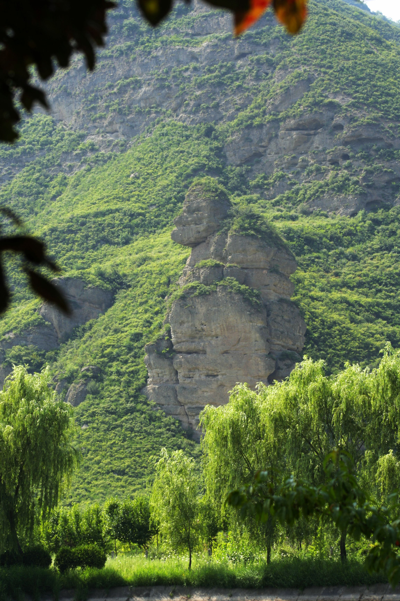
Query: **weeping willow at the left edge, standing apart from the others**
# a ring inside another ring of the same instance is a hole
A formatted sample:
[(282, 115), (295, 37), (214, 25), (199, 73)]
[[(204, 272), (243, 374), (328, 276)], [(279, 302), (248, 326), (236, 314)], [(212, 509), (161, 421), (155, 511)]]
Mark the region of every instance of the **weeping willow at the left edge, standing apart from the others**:
[(55, 507), (79, 460), (73, 409), (50, 388), (49, 369), (14, 367), (0, 392), (0, 532), (22, 552), (35, 518)]

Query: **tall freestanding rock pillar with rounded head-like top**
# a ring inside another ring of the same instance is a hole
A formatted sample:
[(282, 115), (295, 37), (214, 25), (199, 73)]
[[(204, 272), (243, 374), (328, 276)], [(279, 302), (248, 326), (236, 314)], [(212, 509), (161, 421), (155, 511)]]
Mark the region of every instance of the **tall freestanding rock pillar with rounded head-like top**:
[(290, 301), (293, 255), (273, 233), (230, 231), (229, 209), (221, 191), (199, 184), (188, 192), (172, 239), (192, 251), (167, 315), (170, 334), (146, 345), (145, 394), (195, 432), (201, 409), (227, 403), (237, 382), (254, 388), (286, 377), (306, 331)]

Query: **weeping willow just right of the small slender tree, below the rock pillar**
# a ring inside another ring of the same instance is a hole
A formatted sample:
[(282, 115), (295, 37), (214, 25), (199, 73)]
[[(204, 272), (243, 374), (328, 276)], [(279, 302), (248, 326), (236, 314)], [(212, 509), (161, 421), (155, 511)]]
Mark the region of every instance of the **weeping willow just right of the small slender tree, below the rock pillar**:
[[(241, 384), (233, 389), (228, 404), (208, 405), (200, 413), (204, 429), (204, 481), (207, 495), (221, 517), (230, 490), (251, 483), (260, 469), (269, 470), (270, 486), (280, 484), (279, 474), (284, 468), (282, 439), (267, 429), (262, 409), (257, 392)], [(270, 563), (272, 520), (255, 528), (249, 519), (247, 526), (266, 545)]]

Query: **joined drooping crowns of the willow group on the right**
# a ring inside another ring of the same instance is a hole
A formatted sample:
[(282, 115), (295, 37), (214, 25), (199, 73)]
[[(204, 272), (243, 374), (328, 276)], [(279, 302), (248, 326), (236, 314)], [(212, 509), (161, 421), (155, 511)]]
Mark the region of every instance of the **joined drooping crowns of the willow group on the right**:
[[(275, 466), (282, 473), (306, 478), (313, 486), (326, 481), (323, 466), (327, 454), (335, 449), (350, 454), (368, 495), (383, 501), (398, 486), (400, 474), (396, 459), (400, 353), (388, 345), (378, 368), (369, 371), (347, 365), (336, 376), (326, 376), (323, 361), (305, 359), (284, 382), (260, 385), (257, 392), (237, 386), (226, 408), (207, 407), (202, 419), (206, 426), (204, 448), (209, 457), (207, 488), (215, 493), (218, 489), (225, 492), (228, 486), (234, 489), (249, 484), (251, 475), (254, 477), (260, 469), (269, 473), (270, 484), (273, 479), (281, 484), (273, 475), (276, 469), (270, 456), (263, 455), (272, 445), (276, 457), (282, 459), (280, 463), (275, 461)], [(231, 472), (237, 469), (240, 474), (240, 478), (236, 475), (236, 484), (234, 475), (225, 475), (223, 480), (224, 472), (228, 473), (228, 456), (234, 465)], [(344, 529), (342, 560), (347, 555), (345, 538)]]

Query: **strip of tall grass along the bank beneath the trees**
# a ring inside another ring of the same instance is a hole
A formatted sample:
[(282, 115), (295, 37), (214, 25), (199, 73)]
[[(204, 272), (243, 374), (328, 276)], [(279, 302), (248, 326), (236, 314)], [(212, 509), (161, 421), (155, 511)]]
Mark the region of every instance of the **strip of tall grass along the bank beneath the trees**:
[(37, 596), (73, 588), (85, 599), (91, 588), (130, 585), (212, 588), (299, 588), (334, 585), (371, 585), (386, 582), (383, 574), (369, 575), (361, 561), (342, 564), (337, 559), (282, 558), (267, 566), (264, 561), (231, 564), (194, 558), (191, 571), (179, 558), (148, 560), (138, 555), (120, 555), (107, 560), (103, 570), (73, 570), (61, 575), (54, 569), (13, 567), (0, 570), (0, 599), (18, 599), (22, 593)]

